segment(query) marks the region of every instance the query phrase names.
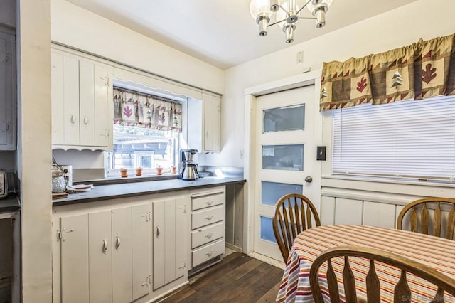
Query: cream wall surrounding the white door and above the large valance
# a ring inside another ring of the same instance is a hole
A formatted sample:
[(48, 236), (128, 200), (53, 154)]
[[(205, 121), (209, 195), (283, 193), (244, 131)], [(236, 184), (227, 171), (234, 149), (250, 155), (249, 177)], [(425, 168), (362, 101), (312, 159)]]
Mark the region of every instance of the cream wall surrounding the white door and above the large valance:
[[(380, 16), (226, 70), (225, 94), (221, 109), (223, 151), (221, 154), (206, 155), (206, 164), (243, 166), (239, 154), (245, 139), (245, 88), (298, 75), (306, 67), (319, 70), (323, 61), (362, 57), (407, 46), (417, 42), (419, 38), (427, 40), (454, 33), (454, 1), (437, 1), (440, 8), (437, 13), (434, 11), (433, 2), (415, 1)], [(327, 14), (327, 22), (330, 22), (330, 12)], [(296, 53), (300, 50), (304, 50), (304, 63), (296, 64)]]

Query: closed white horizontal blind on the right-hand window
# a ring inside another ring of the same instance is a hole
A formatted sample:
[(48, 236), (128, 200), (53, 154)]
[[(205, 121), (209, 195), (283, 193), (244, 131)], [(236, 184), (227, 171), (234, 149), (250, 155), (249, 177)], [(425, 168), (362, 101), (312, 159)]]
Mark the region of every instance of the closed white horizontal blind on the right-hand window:
[(332, 174), (455, 181), (455, 96), (333, 110)]

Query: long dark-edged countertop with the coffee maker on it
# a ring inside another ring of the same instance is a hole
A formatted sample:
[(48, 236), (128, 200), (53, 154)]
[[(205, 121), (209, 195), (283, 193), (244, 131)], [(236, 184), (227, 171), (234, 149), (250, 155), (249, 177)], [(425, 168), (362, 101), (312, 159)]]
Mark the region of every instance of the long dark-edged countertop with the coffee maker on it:
[[(123, 184), (96, 185), (90, 191), (70, 193), (68, 198), (52, 201), (53, 206), (63, 206), (76, 203), (109, 200), (113, 198), (126, 198), (142, 196), (152, 193), (165, 193), (168, 191), (179, 191), (183, 189), (205, 188), (226, 184), (243, 184), (243, 177), (205, 177), (195, 181), (181, 179), (129, 182)], [(90, 184), (87, 182), (87, 184)]]

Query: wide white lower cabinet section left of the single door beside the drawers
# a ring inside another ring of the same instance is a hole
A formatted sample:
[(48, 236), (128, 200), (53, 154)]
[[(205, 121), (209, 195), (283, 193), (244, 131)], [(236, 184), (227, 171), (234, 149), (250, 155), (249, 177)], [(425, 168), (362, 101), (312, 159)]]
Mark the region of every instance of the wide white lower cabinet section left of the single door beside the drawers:
[(60, 216), (60, 302), (132, 302), (148, 294), (150, 218), (149, 203)]

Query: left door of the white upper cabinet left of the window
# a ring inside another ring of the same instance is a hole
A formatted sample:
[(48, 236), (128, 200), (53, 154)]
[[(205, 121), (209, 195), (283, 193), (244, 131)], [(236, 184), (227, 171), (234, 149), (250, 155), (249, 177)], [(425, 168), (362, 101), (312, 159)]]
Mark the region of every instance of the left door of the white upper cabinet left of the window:
[(52, 53), (52, 144), (79, 145), (79, 60)]

